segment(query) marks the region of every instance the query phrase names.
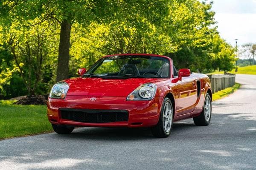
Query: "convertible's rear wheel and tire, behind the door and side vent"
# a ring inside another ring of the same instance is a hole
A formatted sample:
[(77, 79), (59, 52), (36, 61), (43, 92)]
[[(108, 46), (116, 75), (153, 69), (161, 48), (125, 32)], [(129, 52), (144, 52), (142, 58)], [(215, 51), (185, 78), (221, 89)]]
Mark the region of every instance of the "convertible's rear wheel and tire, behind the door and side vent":
[(204, 108), (199, 116), (193, 118), (195, 125), (207, 126), (211, 122), (212, 118), (212, 99), (207, 93), (204, 99)]

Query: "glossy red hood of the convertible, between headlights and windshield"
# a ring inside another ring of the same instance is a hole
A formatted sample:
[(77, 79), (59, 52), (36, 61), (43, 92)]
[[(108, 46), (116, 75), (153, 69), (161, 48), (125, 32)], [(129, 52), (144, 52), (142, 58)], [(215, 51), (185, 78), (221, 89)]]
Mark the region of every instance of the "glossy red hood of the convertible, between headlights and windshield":
[(127, 97), (138, 86), (155, 79), (128, 78), (128, 79), (101, 79), (76, 78), (66, 82), (70, 88), (67, 96), (123, 96)]

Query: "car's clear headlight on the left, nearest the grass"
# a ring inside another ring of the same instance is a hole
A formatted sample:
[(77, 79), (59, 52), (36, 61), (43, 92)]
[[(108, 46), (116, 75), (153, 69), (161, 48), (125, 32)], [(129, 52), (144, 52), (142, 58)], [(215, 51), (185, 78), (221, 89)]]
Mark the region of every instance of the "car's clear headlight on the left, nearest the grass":
[(57, 82), (55, 85), (53, 85), (49, 97), (55, 99), (64, 99), (68, 89), (69, 86), (66, 82)]

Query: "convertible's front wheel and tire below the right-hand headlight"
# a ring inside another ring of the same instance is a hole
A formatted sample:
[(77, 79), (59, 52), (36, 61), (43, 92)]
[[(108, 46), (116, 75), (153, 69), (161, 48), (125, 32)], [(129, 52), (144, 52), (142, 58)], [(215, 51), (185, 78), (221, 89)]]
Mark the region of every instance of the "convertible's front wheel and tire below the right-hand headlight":
[(160, 118), (156, 126), (151, 127), (153, 136), (158, 138), (166, 138), (170, 135), (173, 124), (173, 108), (171, 100), (166, 97), (163, 100)]

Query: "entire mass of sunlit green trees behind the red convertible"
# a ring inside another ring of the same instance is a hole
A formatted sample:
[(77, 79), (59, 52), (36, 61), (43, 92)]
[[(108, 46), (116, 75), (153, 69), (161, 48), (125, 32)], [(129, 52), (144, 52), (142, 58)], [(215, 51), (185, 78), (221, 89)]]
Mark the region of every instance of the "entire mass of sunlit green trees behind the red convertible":
[(234, 49), (211, 8), (198, 0), (2, 0), (1, 94), (47, 93), (56, 77), (108, 54), (162, 54), (177, 68), (229, 71)]

